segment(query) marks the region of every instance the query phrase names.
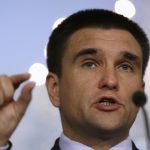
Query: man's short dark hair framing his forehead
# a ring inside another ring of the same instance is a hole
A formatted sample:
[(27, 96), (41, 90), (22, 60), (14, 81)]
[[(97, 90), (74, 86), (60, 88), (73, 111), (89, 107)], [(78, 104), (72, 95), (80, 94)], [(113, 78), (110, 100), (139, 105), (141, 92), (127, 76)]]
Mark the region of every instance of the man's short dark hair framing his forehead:
[(123, 15), (104, 9), (78, 11), (65, 19), (53, 30), (47, 44), (47, 65), (50, 72), (61, 77), (62, 58), (68, 39), (74, 32), (86, 27), (123, 29), (130, 32), (141, 46), (143, 55), (142, 73), (144, 75), (150, 53), (147, 35), (137, 23)]

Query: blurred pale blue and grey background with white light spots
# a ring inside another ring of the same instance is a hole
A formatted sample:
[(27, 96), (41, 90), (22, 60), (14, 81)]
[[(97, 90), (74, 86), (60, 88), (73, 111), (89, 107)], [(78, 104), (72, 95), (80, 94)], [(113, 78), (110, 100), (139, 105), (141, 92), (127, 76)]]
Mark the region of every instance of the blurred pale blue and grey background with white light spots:
[[(36, 80), (33, 100), (25, 117), (11, 137), (12, 150), (49, 150), (61, 134), (59, 112), (44, 86), (47, 74), (45, 47), (60, 20), (87, 8), (103, 8), (136, 21), (150, 39), (149, 0), (1, 0), (0, 1), (0, 74), (30, 72)], [(150, 65), (144, 77), (150, 98)], [(18, 96), (19, 90), (16, 92)], [(150, 102), (146, 109), (150, 120)], [(143, 115), (140, 112), (130, 133), (136, 145), (146, 150)]]

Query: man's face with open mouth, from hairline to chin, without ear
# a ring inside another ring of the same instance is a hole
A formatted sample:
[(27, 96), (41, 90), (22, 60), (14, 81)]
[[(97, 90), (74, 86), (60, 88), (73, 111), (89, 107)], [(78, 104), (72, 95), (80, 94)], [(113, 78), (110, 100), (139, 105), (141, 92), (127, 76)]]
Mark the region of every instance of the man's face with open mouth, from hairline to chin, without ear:
[(66, 134), (127, 136), (138, 112), (132, 95), (143, 90), (139, 44), (124, 30), (78, 30), (68, 41), (57, 88)]

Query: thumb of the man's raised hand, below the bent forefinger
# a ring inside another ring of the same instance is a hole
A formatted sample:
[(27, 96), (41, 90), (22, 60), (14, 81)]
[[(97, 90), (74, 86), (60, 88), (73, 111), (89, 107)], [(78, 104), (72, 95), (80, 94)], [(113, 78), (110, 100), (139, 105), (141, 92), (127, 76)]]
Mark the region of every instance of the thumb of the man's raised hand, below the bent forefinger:
[(23, 89), (21, 91), (21, 95), (19, 96), (19, 98), (16, 102), (16, 105), (14, 105), (15, 113), (16, 113), (16, 117), (17, 117), (18, 121), (23, 117), (23, 115), (31, 101), (32, 90), (33, 90), (34, 86), (35, 86), (34, 82), (27, 83), (23, 87)]

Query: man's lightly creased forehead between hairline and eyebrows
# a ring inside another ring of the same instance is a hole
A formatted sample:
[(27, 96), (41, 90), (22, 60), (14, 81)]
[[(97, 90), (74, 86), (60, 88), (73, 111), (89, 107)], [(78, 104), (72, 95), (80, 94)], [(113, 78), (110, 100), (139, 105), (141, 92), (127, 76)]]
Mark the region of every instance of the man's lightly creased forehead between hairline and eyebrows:
[(86, 48), (105, 51), (129, 50), (142, 55), (141, 47), (134, 36), (121, 29), (83, 28), (73, 33), (68, 42), (65, 54), (73, 54)]

